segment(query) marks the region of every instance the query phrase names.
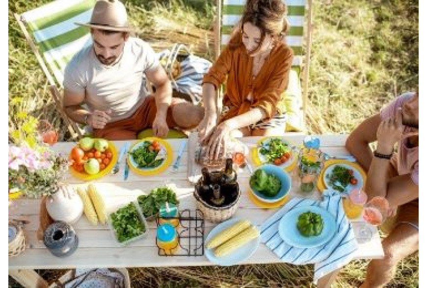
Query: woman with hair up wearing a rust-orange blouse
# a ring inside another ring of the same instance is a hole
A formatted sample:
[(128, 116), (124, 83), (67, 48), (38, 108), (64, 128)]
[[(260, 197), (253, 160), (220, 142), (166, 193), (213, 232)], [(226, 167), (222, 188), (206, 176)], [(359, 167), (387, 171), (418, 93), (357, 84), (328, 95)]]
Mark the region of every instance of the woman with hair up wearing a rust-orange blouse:
[[(230, 136), (284, 133), (285, 117), (277, 104), (293, 58), (282, 41), (289, 28), (286, 14), (282, 0), (248, 0), (230, 42), (203, 77), (205, 116), (198, 129), (211, 159), (225, 152)], [(226, 79), (225, 109), (217, 121), (215, 90)]]

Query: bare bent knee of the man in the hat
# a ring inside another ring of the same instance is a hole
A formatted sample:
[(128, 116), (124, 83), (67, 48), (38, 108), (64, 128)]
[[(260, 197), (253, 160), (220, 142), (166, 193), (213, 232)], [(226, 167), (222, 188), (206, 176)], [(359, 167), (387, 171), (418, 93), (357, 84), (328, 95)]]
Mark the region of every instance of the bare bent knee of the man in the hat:
[(192, 129), (196, 127), (205, 115), (203, 107), (183, 101), (172, 106), (172, 117), (180, 128)]

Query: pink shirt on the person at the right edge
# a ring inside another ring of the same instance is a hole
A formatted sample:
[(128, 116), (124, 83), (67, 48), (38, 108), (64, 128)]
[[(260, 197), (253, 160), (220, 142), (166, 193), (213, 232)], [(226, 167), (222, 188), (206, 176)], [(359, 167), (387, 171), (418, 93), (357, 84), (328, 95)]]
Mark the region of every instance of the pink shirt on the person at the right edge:
[[(385, 106), (381, 112), (381, 119), (386, 119), (396, 115), (398, 108), (411, 99), (415, 93), (405, 93), (394, 99), (390, 104)], [(418, 131), (418, 129), (406, 127), (403, 133)], [(411, 179), (418, 185), (418, 146), (408, 148), (406, 145), (407, 138), (402, 139), (398, 144), (398, 153), (393, 155), (391, 164), (397, 169), (399, 175), (411, 174)]]

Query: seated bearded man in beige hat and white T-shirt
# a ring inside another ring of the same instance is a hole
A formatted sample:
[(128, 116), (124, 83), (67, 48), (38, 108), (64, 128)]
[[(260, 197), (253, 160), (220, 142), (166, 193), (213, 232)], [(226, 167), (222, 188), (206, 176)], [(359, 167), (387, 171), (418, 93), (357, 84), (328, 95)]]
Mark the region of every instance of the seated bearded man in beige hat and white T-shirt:
[[(64, 75), (64, 110), (76, 122), (108, 140), (136, 139), (153, 128), (165, 137), (169, 127), (190, 129), (203, 119), (203, 108), (172, 98), (172, 87), (154, 50), (130, 37), (125, 6), (118, 0), (98, 0), (90, 23), (93, 43), (70, 61)], [(155, 87), (153, 96), (144, 78)], [(86, 104), (89, 109), (82, 107)]]

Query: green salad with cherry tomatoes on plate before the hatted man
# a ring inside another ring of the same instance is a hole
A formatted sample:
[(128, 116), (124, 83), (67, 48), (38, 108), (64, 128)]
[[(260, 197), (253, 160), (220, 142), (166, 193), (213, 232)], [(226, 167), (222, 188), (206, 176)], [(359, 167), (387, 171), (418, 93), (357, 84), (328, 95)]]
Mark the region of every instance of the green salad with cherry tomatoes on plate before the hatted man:
[(131, 152), (131, 155), (138, 168), (156, 168), (164, 161), (164, 159), (155, 160), (160, 149), (159, 142), (144, 141), (141, 146)]

